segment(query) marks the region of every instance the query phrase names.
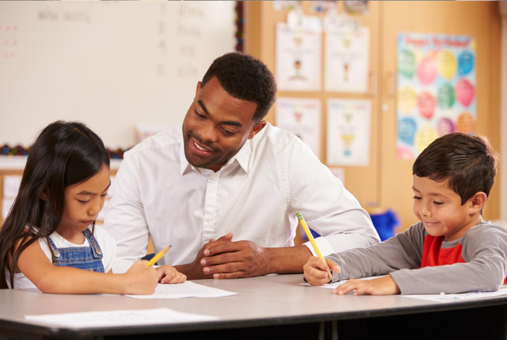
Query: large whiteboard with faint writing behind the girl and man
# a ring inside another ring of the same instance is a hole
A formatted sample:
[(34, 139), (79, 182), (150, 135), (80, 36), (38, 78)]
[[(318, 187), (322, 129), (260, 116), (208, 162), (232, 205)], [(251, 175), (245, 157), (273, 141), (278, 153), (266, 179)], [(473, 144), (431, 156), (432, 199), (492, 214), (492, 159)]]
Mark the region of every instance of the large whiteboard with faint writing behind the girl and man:
[(0, 144), (55, 120), (111, 148), (136, 124), (181, 124), (197, 82), (234, 51), (236, 2), (0, 2)]

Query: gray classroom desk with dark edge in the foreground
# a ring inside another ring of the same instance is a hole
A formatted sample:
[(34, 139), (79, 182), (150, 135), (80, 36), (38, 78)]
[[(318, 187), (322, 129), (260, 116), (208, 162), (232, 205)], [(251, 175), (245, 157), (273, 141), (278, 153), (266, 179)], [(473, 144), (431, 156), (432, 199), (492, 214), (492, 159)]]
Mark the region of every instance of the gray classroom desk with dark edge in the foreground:
[[(121, 295), (58, 295), (28, 290), (0, 290), (0, 336), (10, 338), (100, 339), (113, 335), (133, 336), (136, 334), (152, 334), (150, 337), (142, 336), (139, 338), (155, 338), (153, 337), (155, 333), (175, 334), (176, 332), (216, 331), (220, 329), (280, 325), (292, 325), (291, 327), (294, 327), (296, 324), (313, 323), (320, 325), (320, 335), (316, 335), (315, 338), (324, 338), (325, 335), (325, 338), (334, 339), (337, 338), (337, 328), (346, 327), (354, 320), (356, 320), (354, 327), (357, 327), (357, 320), (395, 316), (393, 317), (394, 321), (389, 322), (396, 324), (399, 323), (400, 317), (412, 315), (413, 321), (409, 319), (409, 321), (405, 320), (403, 322), (413, 322), (414, 327), (416, 327), (415, 325), (421, 324), (420, 316), (424, 315), (424, 313), (435, 314), (436, 312), (466, 309), (481, 311), (479, 313), (474, 312), (474, 314), (476, 316), (485, 316), (486, 320), (490, 320), (495, 326), (499, 326), (500, 330), (505, 330), (505, 325), (507, 325), (503, 321), (507, 315), (507, 310), (504, 308), (507, 306), (507, 297), (463, 301), (455, 304), (435, 304), (400, 295), (338, 296), (331, 294), (331, 289), (301, 286), (300, 283), (303, 283), (303, 275), (301, 274), (273, 275), (235, 280), (200, 280), (195, 282), (237, 292), (237, 295), (218, 298), (142, 300), (131, 299)], [(498, 320), (491, 319), (491, 316), (486, 316), (487, 313), (484, 312), (485, 308), (494, 308), (495, 306), (501, 308), (492, 312), (493, 316), (501, 315)], [(38, 325), (23, 318), (26, 314), (154, 309), (162, 307), (181, 312), (219, 316), (221, 320), (192, 324), (76, 330)], [(440, 318), (442, 318), (442, 315)], [(462, 316), (459, 316), (459, 319), (461, 318)], [(337, 321), (341, 322), (340, 326), (337, 326)], [(335, 322), (335, 324), (326, 326), (326, 329), (328, 329), (327, 334), (322, 335), (324, 322)], [(473, 321), (471, 322), (473, 323)], [(498, 325), (499, 323), (501, 325)], [(491, 325), (485, 326), (491, 327)], [(390, 327), (392, 328), (392, 325)], [(446, 324), (446, 327), (449, 327), (449, 324)], [(166, 335), (166, 338), (169, 337)], [(200, 336), (200, 338), (202, 337)], [(406, 338), (415, 337), (409, 336)], [(504, 339), (505, 334), (500, 335), (498, 338)]]

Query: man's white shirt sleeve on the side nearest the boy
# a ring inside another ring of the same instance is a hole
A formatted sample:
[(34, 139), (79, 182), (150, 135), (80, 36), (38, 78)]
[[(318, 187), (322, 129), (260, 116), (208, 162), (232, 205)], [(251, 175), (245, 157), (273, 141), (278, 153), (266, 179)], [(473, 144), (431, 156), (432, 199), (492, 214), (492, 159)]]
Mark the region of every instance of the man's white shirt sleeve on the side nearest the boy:
[[(285, 174), (291, 213), (301, 212), (323, 256), (380, 242), (370, 215), (342, 182), (295, 137), (287, 148)], [(311, 244), (305, 243), (315, 256)]]

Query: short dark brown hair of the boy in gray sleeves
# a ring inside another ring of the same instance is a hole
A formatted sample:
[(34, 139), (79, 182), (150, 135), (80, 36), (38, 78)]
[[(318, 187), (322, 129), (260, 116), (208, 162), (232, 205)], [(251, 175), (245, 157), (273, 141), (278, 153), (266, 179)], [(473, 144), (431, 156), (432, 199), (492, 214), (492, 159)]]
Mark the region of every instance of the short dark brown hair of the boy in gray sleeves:
[(497, 161), (498, 154), (487, 138), (456, 132), (429, 144), (417, 157), (412, 174), (438, 182), (449, 179), (449, 187), (463, 205), (478, 192), (489, 197)]

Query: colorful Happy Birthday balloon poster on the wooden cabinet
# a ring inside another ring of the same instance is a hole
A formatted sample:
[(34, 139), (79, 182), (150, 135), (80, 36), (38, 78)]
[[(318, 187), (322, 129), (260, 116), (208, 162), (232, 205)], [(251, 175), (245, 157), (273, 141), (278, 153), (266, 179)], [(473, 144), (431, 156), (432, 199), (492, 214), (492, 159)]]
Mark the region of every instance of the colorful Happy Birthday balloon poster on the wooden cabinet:
[(448, 133), (474, 134), (475, 39), (400, 33), (397, 43), (397, 157), (415, 159)]

